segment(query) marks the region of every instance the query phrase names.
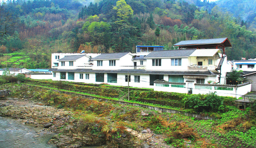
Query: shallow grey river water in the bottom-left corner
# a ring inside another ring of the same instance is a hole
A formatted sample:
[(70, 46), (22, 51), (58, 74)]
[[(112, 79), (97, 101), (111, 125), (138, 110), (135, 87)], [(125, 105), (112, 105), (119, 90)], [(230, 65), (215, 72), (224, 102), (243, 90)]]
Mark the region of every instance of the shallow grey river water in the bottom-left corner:
[(56, 148), (47, 144), (53, 135), (42, 128), (0, 117), (0, 148)]

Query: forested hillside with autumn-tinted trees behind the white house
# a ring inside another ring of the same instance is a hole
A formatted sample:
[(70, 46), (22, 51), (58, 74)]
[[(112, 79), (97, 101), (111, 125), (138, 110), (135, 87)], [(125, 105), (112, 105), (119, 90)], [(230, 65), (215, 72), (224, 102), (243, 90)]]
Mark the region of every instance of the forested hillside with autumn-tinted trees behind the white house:
[(170, 50), (181, 40), (219, 37), (228, 37), (232, 44), (232, 48), (226, 49), (229, 60), (256, 58), (256, 33), (250, 27), (253, 21), (245, 23), (234, 18), (226, 13), (227, 8), (216, 3), (193, 2), (16, 0), (3, 3), (0, 68), (48, 68), (50, 54), (54, 52), (135, 52), (136, 45), (161, 45)]

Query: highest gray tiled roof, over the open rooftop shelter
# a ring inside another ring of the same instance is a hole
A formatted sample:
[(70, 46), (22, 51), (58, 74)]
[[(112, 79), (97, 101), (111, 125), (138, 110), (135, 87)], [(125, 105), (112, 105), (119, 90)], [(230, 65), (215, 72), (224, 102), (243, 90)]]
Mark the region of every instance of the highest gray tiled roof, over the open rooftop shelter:
[(195, 45), (195, 44), (218, 44), (223, 43), (227, 38), (210, 38), (210, 39), (200, 39), (200, 40), (187, 40), (180, 41), (179, 43), (174, 44), (174, 46), (182, 45)]

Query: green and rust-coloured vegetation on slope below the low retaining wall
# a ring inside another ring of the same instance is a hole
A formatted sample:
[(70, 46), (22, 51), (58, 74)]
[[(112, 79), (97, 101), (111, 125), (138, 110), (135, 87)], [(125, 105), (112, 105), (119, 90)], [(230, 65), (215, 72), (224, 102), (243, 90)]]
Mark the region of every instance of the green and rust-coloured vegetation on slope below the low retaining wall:
[[(135, 142), (144, 143), (144, 141), (137, 141), (137, 138), (134, 141), (132, 135), (126, 129), (133, 129), (141, 133), (143, 129), (148, 128), (155, 134), (166, 137), (166, 143), (174, 147), (187, 147), (190, 140), (189, 146), (194, 148), (253, 148), (256, 144), (256, 103), (252, 103), (251, 107), (246, 108), (245, 111), (229, 106), (231, 103), (228, 103), (229, 111), (219, 113), (219, 119), (198, 120), (179, 114), (161, 113), (141, 107), (118, 105), (111, 101), (103, 102), (102, 100), (60, 94), (52, 90), (19, 86), (13, 83), (2, 84), (1, 88), (10, 89), (12, 97), (25, 96), (26, 99), (40, 101), (69, 111), (72, 110), (72, 113), (79, 120), (77, 124), (81, 127), (80, 130), (77, 129), (80, 134), (76, 134), (76, 136), (90, 134), (101, 137), (105, 139), (108, 145), (139, 146)], [(105, 86), (102, 86), (103, 90), (105, 88)], [(166, 94), (163, 93), (162, 95)], [(142, 116), (142, 111), (149, 115)], [(87, 130), (83, 127), (86, 127)], [(68, 135), (64, 131), (65, 127), (63, 127), (63, 132), (55, 137), (55, 140)], [(73, 130), (73, 132), (76, 133), (77, 131)], [(122, 141), (122, 134), (127, 134), (127, 137), (129, 137), (126, 138), (129, 145)], [(82, 139), (82, 137), (77, 139)], [(154, 143), (154, 146), (157, 147), (157, 144)]]

